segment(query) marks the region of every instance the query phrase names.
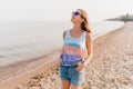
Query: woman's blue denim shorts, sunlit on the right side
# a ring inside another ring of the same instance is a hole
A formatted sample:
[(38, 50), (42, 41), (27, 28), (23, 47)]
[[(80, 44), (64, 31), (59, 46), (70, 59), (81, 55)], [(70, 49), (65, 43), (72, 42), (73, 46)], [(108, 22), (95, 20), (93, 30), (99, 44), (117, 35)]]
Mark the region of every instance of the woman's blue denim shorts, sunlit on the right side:
[(69, 80), (74, 86), (82, 86), (85, 81), (85, 70), (75, 71), (78, 66), (60, 66), (60, 78)]

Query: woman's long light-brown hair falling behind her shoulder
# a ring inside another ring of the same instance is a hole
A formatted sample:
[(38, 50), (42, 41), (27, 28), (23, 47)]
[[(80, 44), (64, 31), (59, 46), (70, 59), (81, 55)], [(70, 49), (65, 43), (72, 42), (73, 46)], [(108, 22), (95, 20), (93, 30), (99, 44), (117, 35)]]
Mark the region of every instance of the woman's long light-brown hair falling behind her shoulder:
[(89, 26), (89, 16), (88, 16), (88, 13), (82, 9), (78, 9), (78, 11), (80, 11), (80, 16), (84, 20), (81, 23), (81, 29), (91, 33), (92, 31), (91, 31), (91, 28)]

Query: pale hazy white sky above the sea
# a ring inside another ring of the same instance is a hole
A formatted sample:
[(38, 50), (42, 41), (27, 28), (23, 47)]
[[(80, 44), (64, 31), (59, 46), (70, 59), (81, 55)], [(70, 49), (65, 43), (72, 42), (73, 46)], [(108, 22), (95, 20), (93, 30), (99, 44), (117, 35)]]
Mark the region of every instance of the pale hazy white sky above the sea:
[(68, 21), (75, 9), (84, 9), (91, 21), (133, 13), (133, 0), (0, 0), (0, 20)]

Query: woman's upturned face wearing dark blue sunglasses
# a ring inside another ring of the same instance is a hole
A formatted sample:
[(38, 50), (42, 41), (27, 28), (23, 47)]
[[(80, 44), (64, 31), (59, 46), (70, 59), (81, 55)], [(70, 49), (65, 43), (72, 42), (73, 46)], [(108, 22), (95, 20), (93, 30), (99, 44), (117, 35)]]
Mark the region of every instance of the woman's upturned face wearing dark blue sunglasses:
[(81, 18), (80, 11), (76, 10), (72, 12), (71, 21), (73, 23), (81, 23), (83, 21), (83, 19)]

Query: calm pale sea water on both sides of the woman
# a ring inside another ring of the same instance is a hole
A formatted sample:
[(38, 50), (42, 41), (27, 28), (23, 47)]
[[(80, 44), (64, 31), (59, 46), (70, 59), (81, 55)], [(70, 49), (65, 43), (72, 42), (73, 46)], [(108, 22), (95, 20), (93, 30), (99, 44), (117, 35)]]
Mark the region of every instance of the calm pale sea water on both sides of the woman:
[[(123, 26), (123, 22), (90, 22), (93, 38)], [(62, 47), (65, 21), (1, 21), (0, 67), (33, 59)]]

